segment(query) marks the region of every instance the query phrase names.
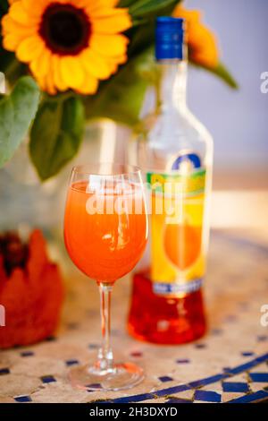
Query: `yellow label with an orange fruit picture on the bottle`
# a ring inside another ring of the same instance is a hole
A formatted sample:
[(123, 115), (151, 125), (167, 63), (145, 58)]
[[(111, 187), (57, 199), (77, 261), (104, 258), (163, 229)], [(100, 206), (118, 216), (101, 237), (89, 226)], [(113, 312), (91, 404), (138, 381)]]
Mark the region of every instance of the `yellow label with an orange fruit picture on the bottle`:
[(147, 183), (153, 290), (161, 296), (186, 296), (201, 288), (205, 273), (205, 168), (194, 166), (185, 173), (149, 172)]

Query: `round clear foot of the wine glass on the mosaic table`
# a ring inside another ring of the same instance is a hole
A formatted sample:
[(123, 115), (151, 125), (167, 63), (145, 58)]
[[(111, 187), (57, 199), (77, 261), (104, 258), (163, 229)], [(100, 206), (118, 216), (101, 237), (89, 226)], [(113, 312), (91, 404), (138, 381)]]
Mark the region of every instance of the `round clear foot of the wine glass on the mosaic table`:
[(72, 387), (83, 391), (121, 391), (142, 382), (144, 371), (132, 363), (113, 365), (100, 370), (96, 365), (73, 368), (68, 375)]

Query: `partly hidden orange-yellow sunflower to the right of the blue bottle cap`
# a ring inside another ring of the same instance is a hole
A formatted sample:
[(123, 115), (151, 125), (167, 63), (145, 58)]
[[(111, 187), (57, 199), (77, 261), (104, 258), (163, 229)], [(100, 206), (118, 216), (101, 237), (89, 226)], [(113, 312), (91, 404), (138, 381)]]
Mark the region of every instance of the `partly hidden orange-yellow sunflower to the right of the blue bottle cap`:
[(209, 69), (215, 69), (219, 64), (217, 40), (214, 33), (202, 23), (201, 13), (197, 10), (187, 10), (179, 4), (173, 16), (185, 19), (187, 22), (190, 60)]

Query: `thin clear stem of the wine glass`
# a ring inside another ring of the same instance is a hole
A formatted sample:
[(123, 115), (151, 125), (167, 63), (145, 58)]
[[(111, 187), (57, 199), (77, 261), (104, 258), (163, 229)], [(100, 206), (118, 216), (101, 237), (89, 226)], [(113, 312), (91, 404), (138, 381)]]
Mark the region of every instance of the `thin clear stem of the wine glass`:
[(111, 295), (113, 284), (100, 282), (100, 313), (102, 324), (102, 346), (98, 351), (97, 366), (100, 371), (113, 370), (113, 351), (111, 348)]

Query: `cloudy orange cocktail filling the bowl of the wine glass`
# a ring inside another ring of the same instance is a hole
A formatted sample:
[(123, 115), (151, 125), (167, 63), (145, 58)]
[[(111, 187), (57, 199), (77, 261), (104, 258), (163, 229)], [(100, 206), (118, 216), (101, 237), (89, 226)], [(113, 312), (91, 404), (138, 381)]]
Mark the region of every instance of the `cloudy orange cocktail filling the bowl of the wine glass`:
[(112, 182), (96, 192), (86, 181), (71, 184), (65, 245), (71, 260), (88, 277), (113, 282), (140, 259), (147, 242), (147, 215), (143, 196), (136, 190), (130, 183)]

